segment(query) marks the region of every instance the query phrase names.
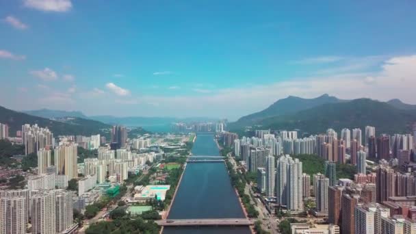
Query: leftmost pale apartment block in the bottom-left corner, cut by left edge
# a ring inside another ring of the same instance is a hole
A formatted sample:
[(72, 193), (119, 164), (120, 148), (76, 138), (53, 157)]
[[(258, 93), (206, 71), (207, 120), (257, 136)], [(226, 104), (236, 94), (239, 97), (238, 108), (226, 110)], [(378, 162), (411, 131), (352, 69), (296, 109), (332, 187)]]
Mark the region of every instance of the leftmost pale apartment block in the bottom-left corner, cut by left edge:
[(26, 233), (26, 199), (24, 196), (0, 197), (0, 233)]

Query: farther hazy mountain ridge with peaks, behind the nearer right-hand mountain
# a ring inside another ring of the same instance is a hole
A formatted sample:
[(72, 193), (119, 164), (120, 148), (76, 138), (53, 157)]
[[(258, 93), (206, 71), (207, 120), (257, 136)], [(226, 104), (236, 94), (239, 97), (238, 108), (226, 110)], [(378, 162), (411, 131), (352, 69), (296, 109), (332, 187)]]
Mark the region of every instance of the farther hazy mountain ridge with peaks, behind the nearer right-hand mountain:
[(285, 99), (279, 99), (270, 105), (270, 107), (263, 109), (261, 112), (256, 112), (254, 114), (249, 114), (248, 116), (239, 118), (239, 120), (237, 120), (234, 125), (250, 125), (264, 118), (292, 114), (303, 109), (317, 107), (318, 105), (323, 105), (326, 103), (340, 102), (343, 102), (343, 100), (337, 99), (335, 96), (329, 96), (328, 94), (318, 96), (315, 99), (303, 99), (298, 96), (288, 96)]

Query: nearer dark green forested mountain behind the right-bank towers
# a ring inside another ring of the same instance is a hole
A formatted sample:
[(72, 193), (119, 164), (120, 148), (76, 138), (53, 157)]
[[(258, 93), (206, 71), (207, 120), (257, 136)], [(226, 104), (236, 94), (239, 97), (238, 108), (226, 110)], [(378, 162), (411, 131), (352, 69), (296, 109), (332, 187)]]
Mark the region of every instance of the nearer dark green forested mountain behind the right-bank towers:
[(295, 114), (274, 116), (255, 122), (261, 129), (299, 129), (302, 133), (316, 134), (333, 128), (364, 129), (366, 125), (376, 127), (379, 133), (404, 133), (416, 122), (416, 110), (398, 109), (380, 101), (355, 99), (341, 103), (326, 103)]

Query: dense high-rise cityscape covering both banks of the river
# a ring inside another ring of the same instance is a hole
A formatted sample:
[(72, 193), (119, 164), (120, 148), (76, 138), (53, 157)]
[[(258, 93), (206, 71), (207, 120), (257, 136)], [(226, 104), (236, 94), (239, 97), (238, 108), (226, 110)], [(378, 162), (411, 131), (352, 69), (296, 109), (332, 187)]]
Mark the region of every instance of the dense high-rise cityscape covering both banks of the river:
[[(117, 125), (107, 141), (101, 135), (55, 138), (29, 124), (10, 137), (8, 125), (0, 124), (2, 143), (22, 153), (1, 167), (2, 233), (96, 233), (126, 216), (159, 232), (154, 220), (168, 217), (200, 132), (215, 133), (225, 160), (205, 161), (225, 161), (246, 217), (257, 220), (252, 231), (416, 231), (414, 134), (377, 134), (367, 126), (303, 138), (298, 131), (246, 130), (239, 138), (225, 129), (224, 121), (175, 123), (177, 133), (131, 138), (131, 129)], [(36, 161), (23, 168), (27, 157)]]

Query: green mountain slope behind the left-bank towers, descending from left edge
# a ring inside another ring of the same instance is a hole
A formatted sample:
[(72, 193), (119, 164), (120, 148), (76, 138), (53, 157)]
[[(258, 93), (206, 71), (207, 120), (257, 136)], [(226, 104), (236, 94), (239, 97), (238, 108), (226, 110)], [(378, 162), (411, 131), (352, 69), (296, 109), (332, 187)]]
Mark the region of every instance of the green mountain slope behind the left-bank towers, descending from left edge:
[(31, 116), (22, 112), (15, 112), (12, 109), (0, 107), (0, 122), (9, 125), (10, 135), (22, 129), (24, 124), (38, 124), (40, 127), (48, 127), (55, 136), (57, 135), (109, 135), (110, 125), (95, 120), (84, 118), (58, 118), (50, 120), (38, 116)]

